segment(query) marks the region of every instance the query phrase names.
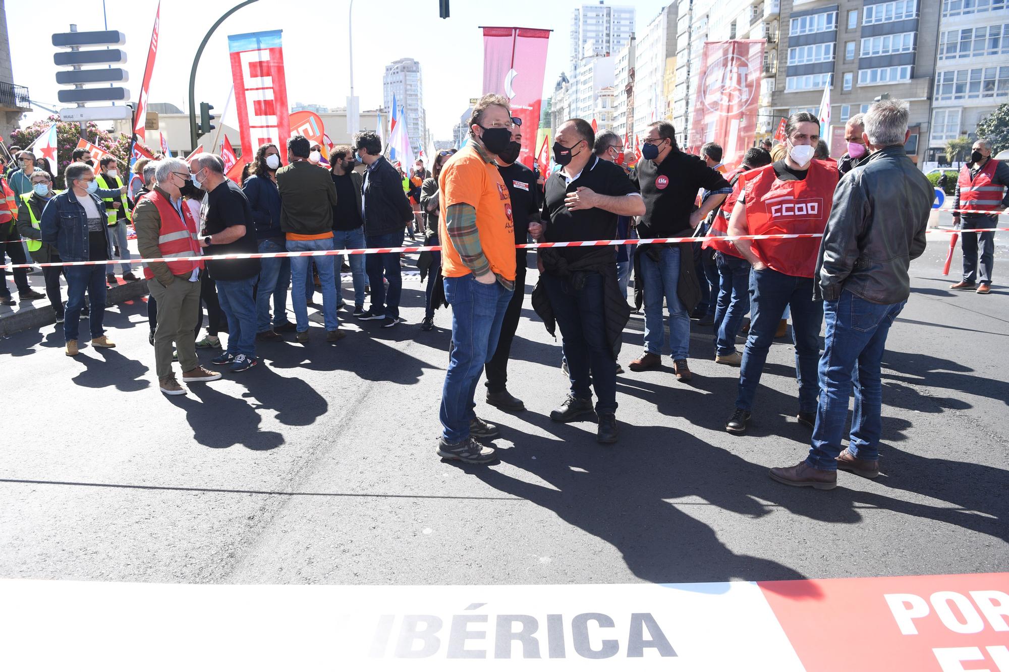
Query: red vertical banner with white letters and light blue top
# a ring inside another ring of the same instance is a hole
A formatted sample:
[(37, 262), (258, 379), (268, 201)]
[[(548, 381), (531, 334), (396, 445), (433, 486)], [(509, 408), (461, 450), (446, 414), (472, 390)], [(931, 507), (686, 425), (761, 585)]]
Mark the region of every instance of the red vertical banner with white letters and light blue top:
[(242, 155), (253, 156), (261, 145), (275, 142), (281, 160), (287, 162), (291, 123), (281, 31), (228, 35), (228, 51)]

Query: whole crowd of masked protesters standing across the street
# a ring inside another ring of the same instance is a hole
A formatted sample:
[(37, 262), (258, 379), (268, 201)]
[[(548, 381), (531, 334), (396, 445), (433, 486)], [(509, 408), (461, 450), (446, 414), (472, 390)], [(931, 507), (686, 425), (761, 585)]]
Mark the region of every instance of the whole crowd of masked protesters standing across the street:
[[(346, 262), (331, 254), (205, 256), (397, 248), (407, 233), (422, 237), (425, 245), (440, 245), (440, 251), (425, 251), (418, 260), (426, 281), (420, 328), (433, 328), (438, 306), (452, 308), (437, 452), (470, 463), (494, 459), (487, 440), (500, 432), (475, 413), (481, 375), (488, 405), (513, 413), (525, 409), (507, 384), (529, 261), (516, 244), (695, 238), (538, 251), (540, 273), (531, 306), (549, 333), (560, 332), (562, 370), (570, 381), (550, 419), (594, 419), (598, 442), (619, 440), (616, 375), (623, 368), (618, 359), (630, 315), (643, 307), (645, 348), (629, 368), (660, 368), (668, 352), (673, 376), (689, 382), (691, 319), (709, 325), (714, 361), (740, 368), (725, 430), (744, 434), (757, 408), (770, 345), (784, 335), (790, 319), (798, 383), (795, 417), (812, 435), (808, 457), (772, 469), (771, 476), (825, 489), (836, 484), (837, 469), (867, 477), (879, 473), (880, 360), (888, 330), (909, 296), (909, 263), (924, 250), (933, 200), (928, 181), (905, 155), (907, 118), (901, 101), (874, 104), (849, 120), (848, 151), (834, 161), (824, 153), (816, 117), (796, 113), (787, 120), (784, 142), (748, 150), (734, 171), (722, 164), (716, 143), (705, 144), (700, 155), (680, 149), (667, 121), (649, 125), (632, 170), (618, 135), (596, 135), (585, 120), (571, 119), (557, 130), (555, 169), (544, 177), (518, 161), (522, 128), (508, 99), (487, 95), (473, 107), (467, 143), (439, 152), (430, 172), (421, 162), (394, 165), (371, 132), (358, 133), (352, 146), (336, 147), (328, 156), (296, 135), (286, 146), (287, 164), (275, 144), (265, 144), (241, 185), (225, 177), (215, 154), (141, 161), (128, 186), (132, 201), (114, 159), (103, 159), (97, 172), (87, 161), (71, 163), (65, 174), (68, 189), (61, 194), (52, 191), (48, 173), (22, 160), (3, 183), (5, 194), (20, 190), (20, 196), (0, 214), (16, 219), (17, 233), (30, 239), (28, 249), (37, 262), (116, 260), (123, 278), (130, 279), (126, 221), (136, 230), (141, 258), (167, 259), (143, 265), (150, 342), (166, 395), (186, 394), (173, 370), (175, 361), (184, 383), (221, 377), (219, 370), (200, 364), (198, 348), (220, 348), (210, 363), (240, 372), (259, 363), (257, 341), (283, 340), (285, 332), (294, 332), (299, 343), (307, 343), (308, 306), (316, 287), (330, 343), (345, 336), (340, 310), (383, 328), (402, 322), (399, 250), (349, 255)], [(1009, 169), (991, 158), (990, 145), (975, 144), (954, 206), (967, 211), (965, 228), (989, 226), (1009, 206), (1006, 173)], [(822, 237), (738, 238), (768, 233)], [(967, 237), (964, 281), (954, 288), (974, 289), (979, 278), (977, 291), (985, 294), (993, 264), (991, 234), (981, 234), (980, 264), (978, 242), (969, 244)], [(18, 247), (7, 244), (15, 263)], [(106, 283), (115, 281), (113, 267), (44, 269), (68, 355), (79, 352), (86, 308), (91, 344), (115, 346), (102, 320)], [(351, 276), (352, 309), (342, 298), (343, 269)], [(60, 299), (61, 273), (68, 285), (66, 304)], [(628, 303), (632, 273), (634, 306)], [(23, 270), (14, 276), (22, 300), (41, 297), (28, 294)], [(294, 322), (287, 313), (289, 291)], [(198, 341), (204, 308), (208, 332)], [(225, 323), (226, 344), (217, 336)], [(741, 331), (747, 332), (742, 353), (737, 349)], [(856, 413), (843, 448), (853, 387)]]

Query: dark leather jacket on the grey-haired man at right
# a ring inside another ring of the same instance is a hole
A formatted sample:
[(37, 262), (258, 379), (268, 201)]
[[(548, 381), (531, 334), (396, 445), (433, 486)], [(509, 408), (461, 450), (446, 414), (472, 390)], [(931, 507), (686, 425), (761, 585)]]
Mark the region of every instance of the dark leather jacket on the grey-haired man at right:
[(885, 147), (847, 174), (833, 193), (815, 277), (817, 298), (848, 290), (874, 304), (898, 304), (911, 294), (907, 269), (925, 251), (935, 192), (904, 153)]

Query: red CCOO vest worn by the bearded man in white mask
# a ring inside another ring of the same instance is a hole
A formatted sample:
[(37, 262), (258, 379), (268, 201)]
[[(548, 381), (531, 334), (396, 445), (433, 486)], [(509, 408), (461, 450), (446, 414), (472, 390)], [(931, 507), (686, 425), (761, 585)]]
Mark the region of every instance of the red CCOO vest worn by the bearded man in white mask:
[[(822, 161), (810, 161), (805, 180), (782, 182), (771, 163), (744, 174), (738, 184), (743, 185), (750, 235), (823, 233), (837, 171)], [(778, 272), (813, 276), (819, 238), (755, 240), (752, 244), (757, 258)]]

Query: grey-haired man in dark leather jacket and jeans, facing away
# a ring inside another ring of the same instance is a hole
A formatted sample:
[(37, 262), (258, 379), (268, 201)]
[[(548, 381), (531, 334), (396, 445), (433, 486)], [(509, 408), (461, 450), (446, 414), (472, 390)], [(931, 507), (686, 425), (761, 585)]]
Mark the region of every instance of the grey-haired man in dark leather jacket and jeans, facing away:
[[(820, 242), (814, 279), (826, 323), (819, 361), (819, 401), (809, 455), (771, 477), (787, 485), (829, 489), (837, 469), (879, 475), (883, 388), (880, 361), (890, 326), (911, 292), (908, 267), (925, 250), (934, 192), (904, 151), (907, 104), (875, 103), (862, 141), (869, 158), (837, 184)], [(855, 385), (850, 442), (842, 449)]]

